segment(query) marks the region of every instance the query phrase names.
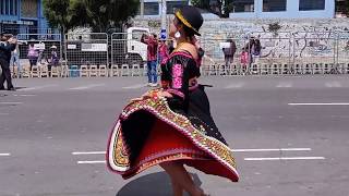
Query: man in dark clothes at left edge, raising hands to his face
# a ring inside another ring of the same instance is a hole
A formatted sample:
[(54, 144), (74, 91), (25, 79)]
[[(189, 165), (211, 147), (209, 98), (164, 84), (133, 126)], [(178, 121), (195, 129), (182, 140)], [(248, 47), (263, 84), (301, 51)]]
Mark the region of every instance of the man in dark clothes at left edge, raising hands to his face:
[(2, 73), (0, 75), (0, 90), (4, 90), (4, 81), (8, 83), (8, 90), (15, 90), (11, 81), (10, 60), (11, 52), (15, 49), (16, 39), (5, 34), (0, 34), (0, 65)]

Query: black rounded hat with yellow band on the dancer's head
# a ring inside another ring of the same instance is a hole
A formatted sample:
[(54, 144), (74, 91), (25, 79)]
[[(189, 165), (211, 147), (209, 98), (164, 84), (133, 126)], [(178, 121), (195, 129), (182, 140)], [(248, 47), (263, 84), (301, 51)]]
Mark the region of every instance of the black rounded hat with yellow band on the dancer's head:
[(200, 27), (204, 23), (204, 19), (195, 7), (185, 5), (176, 11), (174, 15), (189, 28), (194, 30), (194, 33), (198, 36)]

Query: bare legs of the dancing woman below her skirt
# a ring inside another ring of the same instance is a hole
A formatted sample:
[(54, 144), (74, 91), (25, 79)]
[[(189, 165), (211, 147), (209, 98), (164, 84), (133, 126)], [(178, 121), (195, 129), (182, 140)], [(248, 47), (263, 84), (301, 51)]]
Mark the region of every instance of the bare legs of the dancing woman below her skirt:
[(182, 163), (170, 161), (163, 162), (160, 167), (170, 175), (173, 193), (181, 196), (182, 188), (191, 196), (203, 196), (204, 192), (197, 187)]

